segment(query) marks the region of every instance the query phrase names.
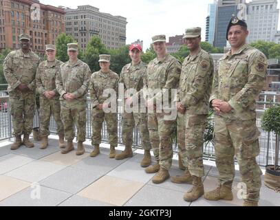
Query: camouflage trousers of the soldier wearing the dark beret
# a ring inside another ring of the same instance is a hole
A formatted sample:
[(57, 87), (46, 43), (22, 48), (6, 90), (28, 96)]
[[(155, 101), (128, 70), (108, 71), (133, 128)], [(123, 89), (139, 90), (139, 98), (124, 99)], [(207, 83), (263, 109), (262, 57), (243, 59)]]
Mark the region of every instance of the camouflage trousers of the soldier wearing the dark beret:
[(259, 130), (256, 121), (226, 120), (215, 116), (215, 155), (219, 183), (232, 185), (235, 156), (241, 180), (246, 184), (246, 199), (259, 201), (262, 173), (256, 161), (259, 155)]

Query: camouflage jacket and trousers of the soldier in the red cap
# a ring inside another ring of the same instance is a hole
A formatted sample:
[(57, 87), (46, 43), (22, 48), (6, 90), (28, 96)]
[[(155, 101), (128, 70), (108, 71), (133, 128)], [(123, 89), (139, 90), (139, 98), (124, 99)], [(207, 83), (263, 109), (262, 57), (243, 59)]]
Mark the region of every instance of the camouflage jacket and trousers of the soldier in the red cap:
[[(142, 61), (136, 67), (133, 67), (132, 63), (125, 65), (120, 73), (119, 83), (124, 84), (125, 91), (131, 88), (135, 89), (135, 91), (140, 91), (143, 87), (143, 77), (146, 69), (147, 64)], [(135, 95), (138, 96), (138, 94)], [(138, 101), (140, 102), (140, 98)], [(122, 114), (122, 143), (126, 146), (133, 144), (133, 127), (135, 125), (138, 126), (140, 131), (142, 148), (150, 150), (151, 143), (147, 125), (147, 113), (140, 112), (140, 103), (138, 104), (138, 112), (124, 112)]]

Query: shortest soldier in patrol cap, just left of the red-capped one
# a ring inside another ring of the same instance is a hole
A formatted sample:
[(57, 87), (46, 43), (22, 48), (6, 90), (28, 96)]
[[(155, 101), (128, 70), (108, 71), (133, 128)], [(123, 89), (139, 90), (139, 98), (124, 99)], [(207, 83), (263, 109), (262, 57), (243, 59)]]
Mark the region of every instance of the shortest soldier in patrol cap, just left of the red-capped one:
[[(118, 113), (116, 102), (118, 99), (118, 74), (109, 69), (110, 55), (99, 55), (100, 70), (94, 72), (90, 78), (89, 92), (91, 97), (91, 144), (94, 151), (91, 157), (96, 157), (100, 153), (101, 129), (105, 119), (107, 132), (109, 133), (110, 154), (109, 158), (116, 155), (115, 147), (118, 146)], [(104, 94), (108, 92), (109, 97)], [(107, 102), (111, 98), (111, 102)], [(114, 108), (115, 107), (115, 108)], [(111, 108), (111, 109), (110, 109)]]

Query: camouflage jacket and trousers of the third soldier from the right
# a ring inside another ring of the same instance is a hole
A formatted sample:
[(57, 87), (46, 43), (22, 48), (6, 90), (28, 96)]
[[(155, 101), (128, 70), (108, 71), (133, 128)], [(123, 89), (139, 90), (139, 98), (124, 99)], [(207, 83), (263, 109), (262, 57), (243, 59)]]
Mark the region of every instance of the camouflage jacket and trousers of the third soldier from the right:
[[(181, 63), (170, 54), (159, 60), (153, 59), (147, 67), (144, 75), (144, 90), (166, 89), (167, 93), (171, 89), (177, 89), (180, 80)], [(161, 90), (153, 96), (154, 104), (157, 100), (162, 102), (162, 96), (166, 96)], [(169, 104), (172, 98), (169, 94)], [(153, 154), (156, 160), (160, 160), (160, 166), (169, 170), (172, 164), (173, 148), (171, 135), (176, 126), (176, 120), (164, 120), (166, 113), (148, 113), (148, 128)]]

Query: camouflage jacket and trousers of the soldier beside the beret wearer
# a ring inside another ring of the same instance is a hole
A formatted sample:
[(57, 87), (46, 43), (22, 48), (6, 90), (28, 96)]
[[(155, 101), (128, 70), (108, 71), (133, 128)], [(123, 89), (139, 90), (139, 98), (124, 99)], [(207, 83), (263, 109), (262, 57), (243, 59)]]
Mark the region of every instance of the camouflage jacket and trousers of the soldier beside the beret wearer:
[(177, 139), (182, 162), (192, 176), (204, 176), (203, 143), (208, 100), (213, 80), (213, 59), (200, 51), (184, 59), (177, 101), (186, 108), (177, 113)]

